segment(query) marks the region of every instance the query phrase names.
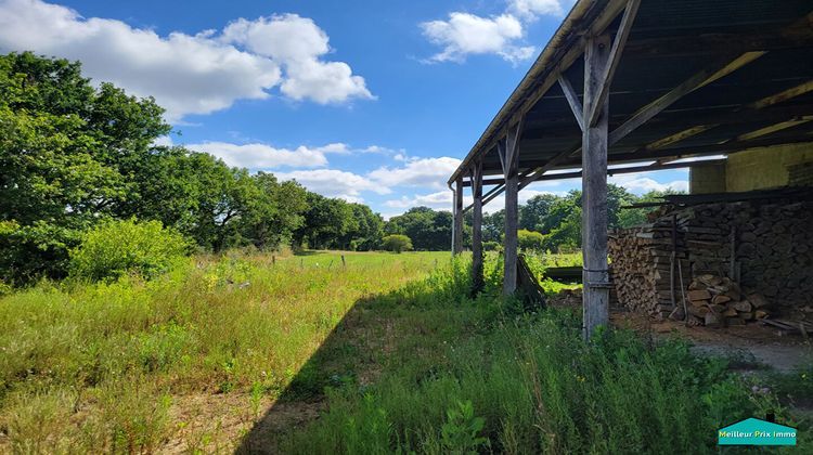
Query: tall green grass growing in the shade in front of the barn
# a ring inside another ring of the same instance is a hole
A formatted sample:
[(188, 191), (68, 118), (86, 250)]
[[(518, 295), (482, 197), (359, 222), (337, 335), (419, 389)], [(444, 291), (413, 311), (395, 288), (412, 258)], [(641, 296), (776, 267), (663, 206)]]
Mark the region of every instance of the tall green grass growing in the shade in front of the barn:
[(585, 343), (576, 314), (522, 312), (494, 280), (490, 295), (456, 298), (459, 273), (365, 304), (398, 334), (383, 373), (328, 386), (328, 411), (281, 452), (711, 453), (717, 429), (769, 410), (811, 443), (809, 421), (723, 360), (624, 330)]

